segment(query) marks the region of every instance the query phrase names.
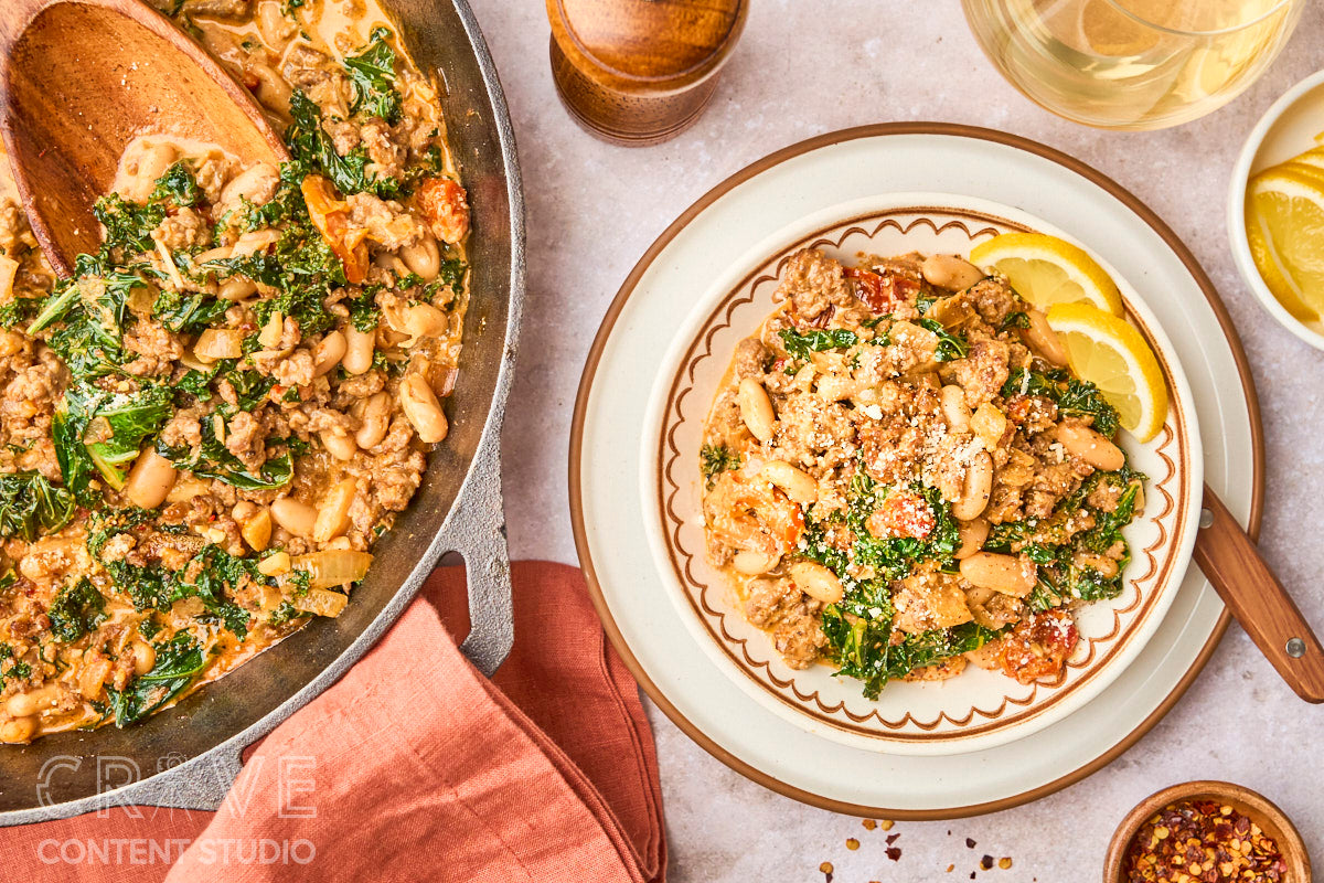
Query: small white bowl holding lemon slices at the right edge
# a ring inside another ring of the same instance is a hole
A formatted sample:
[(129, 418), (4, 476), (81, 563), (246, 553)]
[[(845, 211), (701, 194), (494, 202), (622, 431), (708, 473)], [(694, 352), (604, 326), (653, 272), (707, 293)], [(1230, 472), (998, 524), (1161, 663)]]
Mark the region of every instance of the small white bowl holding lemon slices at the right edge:
[(1315, 135), (1320, 131), (1324, 131), (1324, 70), (1292, 86), (1264, 111), (1237, 158), (1227, 187), (1227, 237), (1237, 269), (1268, 314), (1316, 349), (1324, 349), (1324, 334), (1288, 312), (1255, 269), (1246, 238), (1246, 185), (1256, 172), (1319, 147)]

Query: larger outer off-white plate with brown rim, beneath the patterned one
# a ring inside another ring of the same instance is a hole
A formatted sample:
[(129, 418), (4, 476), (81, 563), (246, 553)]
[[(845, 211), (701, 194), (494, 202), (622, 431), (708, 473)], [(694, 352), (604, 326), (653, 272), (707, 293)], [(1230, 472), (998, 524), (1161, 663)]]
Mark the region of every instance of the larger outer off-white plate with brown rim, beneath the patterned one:
[(796, 144), (718, 185), (662, 234), (626, 279), (589, 355), (571, 440), (571, 507), (608, 635), (691, 739), (755, 781), (817, 806), (951, 818), (1033, 800), (1115, 759), (1186, 690), (1227, 614), (1189, 568), (1155, 634), (1098, 696), (1025, 739), (945, 757), (824, 739), (722, 673), (704, 649), (711, 639), (700, 642), (686, 624), (653, 561), (638, 478), (649, 391), (665, 369), (667, 343), (732, 261), (817, 212), (904, 192), (1014, 207), (1087, 242), (1136, 290), (1162, 293), (1148, 306), (1161, 327), (1181, 330), (1173, 351), (1204, 430), (1205, 481), (1243, 523), (1258, 526), (1263, 446), (1250, 372), (1185, 246), (1087, 165), (1034, 142), (940, 123), (871, 126)]

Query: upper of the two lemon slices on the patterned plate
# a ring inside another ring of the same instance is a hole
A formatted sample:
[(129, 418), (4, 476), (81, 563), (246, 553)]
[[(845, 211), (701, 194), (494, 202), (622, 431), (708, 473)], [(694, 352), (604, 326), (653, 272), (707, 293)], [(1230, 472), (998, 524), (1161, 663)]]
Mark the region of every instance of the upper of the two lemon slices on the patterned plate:
[(1121, 295), (1103, 267), (1082, 249), (1055, 236), (1004, 233), (970, 250), (970, 262), (992, 266), (1017, 293), (1047, 310), (1054, 303), (1083, 301), (1121, 315)]

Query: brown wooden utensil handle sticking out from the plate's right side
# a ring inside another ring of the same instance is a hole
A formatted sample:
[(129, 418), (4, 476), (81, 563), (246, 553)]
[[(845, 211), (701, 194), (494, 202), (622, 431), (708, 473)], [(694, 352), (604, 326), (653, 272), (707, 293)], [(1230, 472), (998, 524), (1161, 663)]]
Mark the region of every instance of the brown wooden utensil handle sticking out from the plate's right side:
[(1324, 647), (1223, 502), (1205, 486), (1196, 563), (1259, 651), (1305, 702), (1324, 702)]

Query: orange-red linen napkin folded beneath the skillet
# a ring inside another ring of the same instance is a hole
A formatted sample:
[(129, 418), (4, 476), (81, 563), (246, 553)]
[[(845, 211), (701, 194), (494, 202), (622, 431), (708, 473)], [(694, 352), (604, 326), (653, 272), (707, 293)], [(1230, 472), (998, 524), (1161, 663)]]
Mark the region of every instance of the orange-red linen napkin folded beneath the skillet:
[(4, 829), (4, 879), (661, 880), (638, 688), (579, 571), (530, 561), (512, 577), (515, 650), (493, 682), (444, 625), (458, 634), (466, 614), (462, 571), (441, 568), (252, 752), (220, 812), (130, 806)]

